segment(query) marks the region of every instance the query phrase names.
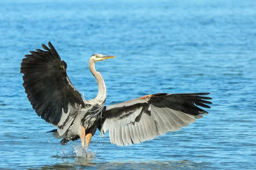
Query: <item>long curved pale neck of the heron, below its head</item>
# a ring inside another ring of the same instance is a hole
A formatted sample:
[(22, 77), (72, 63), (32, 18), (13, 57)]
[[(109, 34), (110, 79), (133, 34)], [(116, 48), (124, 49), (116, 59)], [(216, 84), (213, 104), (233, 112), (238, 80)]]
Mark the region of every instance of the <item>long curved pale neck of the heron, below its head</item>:
[(98, 82), (98, 89), (99, 89), (98, 95), (93, 100), (105, 102), (106, 96), (107, 96), (105, 82), (102, 78), (102, 75), (98, 71), (96, 71), (95, 62), (92, 59), (89, 60), (89, 68), (91, 73), (93, 74), (93, 76), (96, 78)]

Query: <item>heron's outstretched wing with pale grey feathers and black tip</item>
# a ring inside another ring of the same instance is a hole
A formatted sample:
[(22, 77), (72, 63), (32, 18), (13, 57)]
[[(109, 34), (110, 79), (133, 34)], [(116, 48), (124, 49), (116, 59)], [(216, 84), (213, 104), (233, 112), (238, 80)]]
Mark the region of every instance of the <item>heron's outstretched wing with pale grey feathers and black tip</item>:
[(210, 108), (207, 94), (151, 94), (109, 105), (102, 111), (101, 136), (109, 131), (111, 143), (122, 146), (179, 130), (208, 114), (197, 107)]

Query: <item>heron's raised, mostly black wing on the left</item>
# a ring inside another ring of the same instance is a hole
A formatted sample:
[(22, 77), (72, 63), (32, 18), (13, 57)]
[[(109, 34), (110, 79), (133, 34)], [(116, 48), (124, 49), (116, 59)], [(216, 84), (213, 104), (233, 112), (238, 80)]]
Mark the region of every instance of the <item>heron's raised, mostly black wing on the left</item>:
[[(22, 59), (20, 73), (33, 109), (48, 123), (59, 127), (71, 124), (70, 116), (85, 106), (81, 94), (67, 76), (67, 64), (61, 60), (51, 42), (44, 50), (30, 51)], [(73, 116), (74, 117), (74, 116)]]

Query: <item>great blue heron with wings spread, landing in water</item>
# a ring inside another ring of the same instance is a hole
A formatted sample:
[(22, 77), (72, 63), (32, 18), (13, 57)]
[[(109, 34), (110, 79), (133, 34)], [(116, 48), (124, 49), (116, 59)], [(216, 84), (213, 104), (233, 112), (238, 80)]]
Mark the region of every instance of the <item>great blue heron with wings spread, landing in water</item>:
[(30, 51), (22, 59), (20, 73), (23, 86), (31, 105), (38, 116), (58, 127), (59, 136), (66, 144), (81, 139), (84, 147), (98, 128), (100, 136), (109, 131), (110, 142), (118, 146), (154, 139), (168, 131), (175, 131), (195, 118), (207, 114), (197, 106), (210, 108), (209, 93), (150, 94), (127, 102), (105, 105), (106, 86), (102, 75), (96, 71), (95, 62), (114, 56), (93, 54), (89, 68), (98, 82), (98, 95), (85, 100), (67, 76), (67, 64), (61, 60), (51, 42), (44, 48)]

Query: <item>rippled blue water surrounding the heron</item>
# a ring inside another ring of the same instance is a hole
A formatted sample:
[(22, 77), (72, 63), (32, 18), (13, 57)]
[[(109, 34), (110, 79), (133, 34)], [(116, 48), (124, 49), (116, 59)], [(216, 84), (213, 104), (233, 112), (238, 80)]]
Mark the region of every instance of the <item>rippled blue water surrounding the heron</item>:
[[(209, 114), (188, 127), (128, 147), (92, 138), (59, 144), (22, 86), (25, 54), (51, 41), (84, 96), (97, 94), (93, 53), (106, 104), (152, 93), (210, 92)], [(0, 2), (0, 169), (255, 169), (256, 1), (123, 0)], [(94, 155), (94, 156), (93, 156)]]

